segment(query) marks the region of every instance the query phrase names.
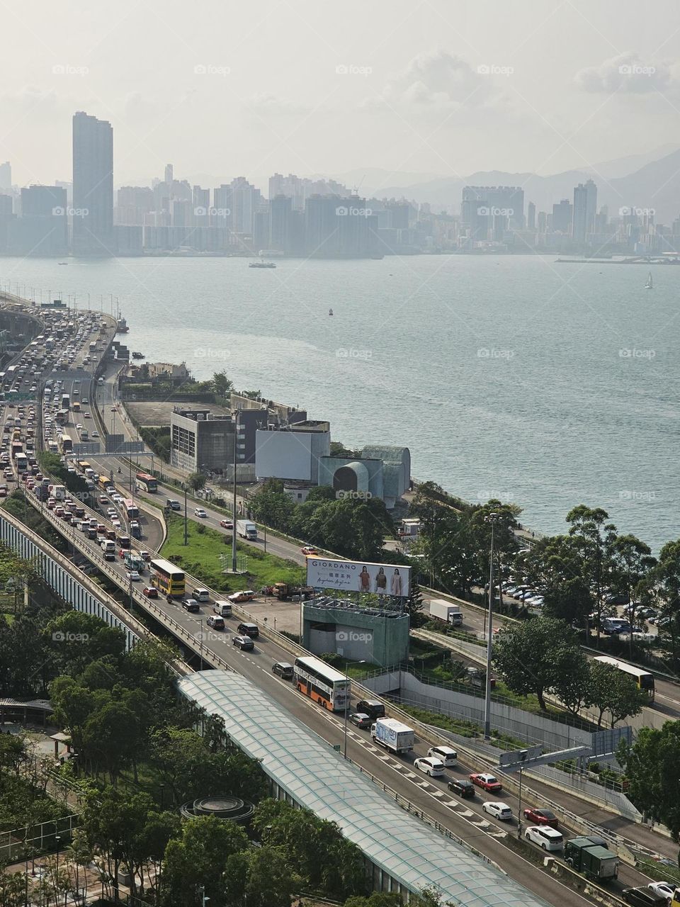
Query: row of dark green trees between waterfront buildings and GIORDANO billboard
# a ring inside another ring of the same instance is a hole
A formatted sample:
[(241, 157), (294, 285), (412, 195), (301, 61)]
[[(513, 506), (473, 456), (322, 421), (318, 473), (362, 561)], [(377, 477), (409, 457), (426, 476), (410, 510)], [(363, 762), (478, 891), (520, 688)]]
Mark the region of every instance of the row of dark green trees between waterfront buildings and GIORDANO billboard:
[(332, 488), (313, 488), (306, 502), (295, 503), (279, 479), (267, 479), (250, 502), (257, 520), (280, 532), (306, 539), (327, 551), (361, 561), (380, 561), (393, 522), (384, 502), (336, 497)]

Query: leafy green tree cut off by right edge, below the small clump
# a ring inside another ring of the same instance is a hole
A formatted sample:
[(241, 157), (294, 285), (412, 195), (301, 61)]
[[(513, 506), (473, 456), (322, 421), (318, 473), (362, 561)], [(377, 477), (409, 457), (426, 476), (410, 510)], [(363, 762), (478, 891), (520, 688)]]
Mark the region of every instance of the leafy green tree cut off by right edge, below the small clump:
[(633, 746), (621, 741), (617, 757), (626, 767), (629, 799), (680, 840), (680, 721), (641, 727)]

